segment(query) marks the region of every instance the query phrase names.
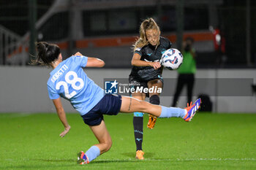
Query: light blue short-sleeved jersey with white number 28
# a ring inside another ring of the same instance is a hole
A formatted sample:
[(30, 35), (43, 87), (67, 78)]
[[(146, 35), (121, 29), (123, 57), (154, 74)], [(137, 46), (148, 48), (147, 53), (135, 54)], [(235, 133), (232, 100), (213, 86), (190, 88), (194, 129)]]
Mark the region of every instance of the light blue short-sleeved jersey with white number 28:
[(66, 98), (80, 115), (89, 112), (105, 95), (83, 71), (87, 61), (86, 56), (67, 58), (50, 72), (47, 82), (50, 99)]

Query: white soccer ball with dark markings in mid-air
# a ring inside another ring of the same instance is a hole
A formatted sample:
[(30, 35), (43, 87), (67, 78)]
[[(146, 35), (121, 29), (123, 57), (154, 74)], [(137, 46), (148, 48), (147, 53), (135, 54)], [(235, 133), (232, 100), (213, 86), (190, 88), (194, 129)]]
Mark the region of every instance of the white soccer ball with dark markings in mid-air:
[(181, 52), (175, 48), (170, 48), (162, 54), (161, 64), (167, 69), (178, 69), (183, 61)]

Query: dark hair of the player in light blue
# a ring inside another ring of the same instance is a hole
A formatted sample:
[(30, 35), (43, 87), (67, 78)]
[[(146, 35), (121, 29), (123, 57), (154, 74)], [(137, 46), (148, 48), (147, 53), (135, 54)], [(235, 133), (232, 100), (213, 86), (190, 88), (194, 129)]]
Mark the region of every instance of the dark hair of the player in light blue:
[(61, 53), (59, 46), (48, 44), (47, 42), (37, 42), (37, 60), (33, 63), (50, 66), (50, 63), (55, 61)]

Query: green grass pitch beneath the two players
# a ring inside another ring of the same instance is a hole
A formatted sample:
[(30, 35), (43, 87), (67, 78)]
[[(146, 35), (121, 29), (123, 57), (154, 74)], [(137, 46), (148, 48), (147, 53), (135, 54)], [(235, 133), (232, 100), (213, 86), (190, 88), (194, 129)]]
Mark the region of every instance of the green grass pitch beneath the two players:
[(135, 160), (132, 114), (105, 116), (113, 146), (87, 165), (77, 152), (97, 143), (79, 114), (67, 114), (64, 130), (56, 114), (0, 114), (0, 169), (256, 169), (256, 115), (199, 112), (192, 122), (158, 119), (146, 128), (145, 160)]

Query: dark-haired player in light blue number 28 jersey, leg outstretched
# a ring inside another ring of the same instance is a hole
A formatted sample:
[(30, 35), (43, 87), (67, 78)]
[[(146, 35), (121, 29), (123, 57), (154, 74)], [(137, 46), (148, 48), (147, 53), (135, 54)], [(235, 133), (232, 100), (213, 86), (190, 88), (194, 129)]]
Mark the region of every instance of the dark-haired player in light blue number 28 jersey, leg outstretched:
[(64, 137), (70, 130), (66, 114), (61, 104), (61, 98), (66, 98), (78, 110), (84, 123), (89, 125), (99, 144), (94, 144), (86, 152), (78, 153), (78, 163), (93, 161), (99, 155), (110, 150), (112, 140), (103, 120), (105, 115), (117, 115), (118, 112), (146, 112), (156, 117), (181, 117), (190, 121), (200, 107), (200, 98), (185, 109), (162, 107), (140, 101), (128, 96), (105, 94), (102, 88), (94, 83), (83, 71), (84, 67), (102, 67), (104, 61), (89, 58), (76, 53), (62, 61), (62, 55), (57, 45), (47, 42), (37, 43), (37, 61), (53, 68), (48, 80), (48, 93), (56, 107), (64, 131)]

